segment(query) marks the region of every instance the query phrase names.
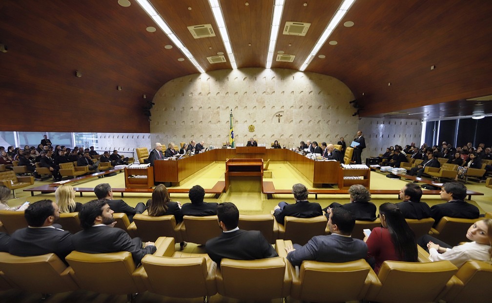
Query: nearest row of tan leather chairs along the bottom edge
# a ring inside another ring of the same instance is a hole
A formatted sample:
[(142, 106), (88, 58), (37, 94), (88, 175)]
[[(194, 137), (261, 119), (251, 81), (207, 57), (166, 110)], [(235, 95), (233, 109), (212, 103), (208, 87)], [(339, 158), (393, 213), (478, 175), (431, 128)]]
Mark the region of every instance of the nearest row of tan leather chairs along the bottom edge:
[[(260, 260), (222, 259), (220, 267), (206, 254), (175, 251), (174, 239), (157, 239), (157, 251), (136, 267), (129, 252), (71, 252), (66, 261), (54, 254), (17, 257), (0, 253), (1, 289), (35, 293), (84, 289), (123, 295), (149, 291), (173, 298), (207, 302), (216, 293), (239, 300), (276, 298), (312, 302), (489, 302), (492, 267), (468, 261), (460, 269), (449, 261), (386, 261), (376, 275), (365, 260), (345, 263), (305, 261), (298, 270), (285, 259), (290, 241), (277, 240), (278, 257)], [(94, 275), (97, 273), (97, 275)]]

